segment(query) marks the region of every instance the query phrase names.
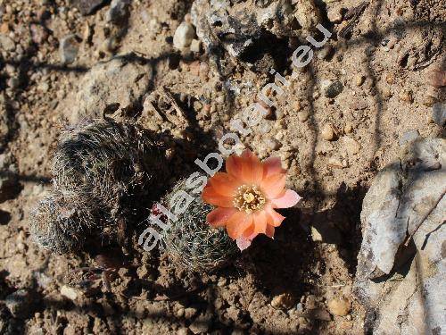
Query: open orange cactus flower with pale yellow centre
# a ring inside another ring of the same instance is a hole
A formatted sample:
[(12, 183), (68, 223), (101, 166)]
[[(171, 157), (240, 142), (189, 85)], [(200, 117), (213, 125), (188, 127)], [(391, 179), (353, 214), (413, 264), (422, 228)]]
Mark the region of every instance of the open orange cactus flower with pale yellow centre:
[(285, 217), (276, 208), (296, 205), (301, 197), (285, 188), (286, 171), (280, 159), (260, 162), (250, 150), (231, 155), (227, 172), (217, 172), (202, 190), (202, 200), (215, 208), (207, 215), (212, 227), (226, 227), (231, 239), (243, 250), (258, 234), (274, 237), (274, 230)]

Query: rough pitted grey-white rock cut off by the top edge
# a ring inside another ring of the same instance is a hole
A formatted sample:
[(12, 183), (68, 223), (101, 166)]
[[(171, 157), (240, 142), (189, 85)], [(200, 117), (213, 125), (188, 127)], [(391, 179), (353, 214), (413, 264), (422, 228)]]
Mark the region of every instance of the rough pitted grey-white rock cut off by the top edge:
[(270, 37), (306, 38), (320, 22), (313, 0), (195, 0), (191, 9), (196, 33), (204, 46), (223, 46), (233, 57), (243, 57)]

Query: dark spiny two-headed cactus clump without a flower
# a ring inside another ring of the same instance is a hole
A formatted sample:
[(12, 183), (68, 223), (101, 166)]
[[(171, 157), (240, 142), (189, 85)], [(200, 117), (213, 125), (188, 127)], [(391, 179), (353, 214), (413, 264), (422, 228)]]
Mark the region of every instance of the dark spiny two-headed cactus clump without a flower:
[(117, 241), (157, 196), (164, 159), (153, 135), (135, 125), (84, 121), (66, 130), (54, 152), (53, 194), (32, 215), (33, 238), (58, 253), (88, 239)]

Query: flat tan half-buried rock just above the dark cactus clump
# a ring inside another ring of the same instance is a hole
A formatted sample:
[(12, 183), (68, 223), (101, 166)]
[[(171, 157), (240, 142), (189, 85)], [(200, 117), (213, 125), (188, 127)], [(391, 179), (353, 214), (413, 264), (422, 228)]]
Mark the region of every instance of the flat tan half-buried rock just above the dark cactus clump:
[(126, 113), (141, 108), (151, 73), (152, 68), (138, 63), (133, 54), (97, 63), (80, 80), (74, 97), (78, 105), (67, 108), (66, 117), (71, 123), (83, 118), (102, 118), (104, 109), (113, 104), (119, 104)]

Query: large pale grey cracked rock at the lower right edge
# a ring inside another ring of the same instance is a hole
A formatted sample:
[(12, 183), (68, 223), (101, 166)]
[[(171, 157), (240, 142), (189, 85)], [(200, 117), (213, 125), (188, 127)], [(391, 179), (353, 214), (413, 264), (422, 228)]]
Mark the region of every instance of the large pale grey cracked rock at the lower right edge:
[(374, 334), (446, 331), (446, 140), (426, 138), (364, 198), (355, 292)]

